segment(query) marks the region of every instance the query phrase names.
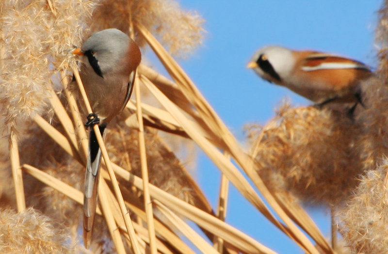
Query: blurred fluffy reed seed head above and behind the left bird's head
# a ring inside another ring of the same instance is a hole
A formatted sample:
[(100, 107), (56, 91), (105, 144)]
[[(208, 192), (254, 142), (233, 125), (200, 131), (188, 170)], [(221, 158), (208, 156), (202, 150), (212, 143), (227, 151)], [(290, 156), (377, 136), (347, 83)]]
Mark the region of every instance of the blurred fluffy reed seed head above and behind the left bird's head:
[[(182, 10), (176, 1), (102, 0), (100, 4), (93, 11), (93, 32), (117, 28), (129, 33), (132, 21), (144, 25), (174, 55), (185, 56), (201, 44), (204, 20), (196, 12)], [(145, 46), (142, 37), (136, 36), (135, 40), (140, 47)]]

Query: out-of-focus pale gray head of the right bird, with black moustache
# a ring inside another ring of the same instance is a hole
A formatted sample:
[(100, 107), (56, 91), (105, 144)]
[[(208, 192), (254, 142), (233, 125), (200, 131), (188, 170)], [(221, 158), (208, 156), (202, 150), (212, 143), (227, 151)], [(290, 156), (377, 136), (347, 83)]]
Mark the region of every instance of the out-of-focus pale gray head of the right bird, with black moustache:
[(248, 63), (261, 78), (280, 83), (292, 71), (295, 60), (292, 51), (278, 46), (260, 48)]

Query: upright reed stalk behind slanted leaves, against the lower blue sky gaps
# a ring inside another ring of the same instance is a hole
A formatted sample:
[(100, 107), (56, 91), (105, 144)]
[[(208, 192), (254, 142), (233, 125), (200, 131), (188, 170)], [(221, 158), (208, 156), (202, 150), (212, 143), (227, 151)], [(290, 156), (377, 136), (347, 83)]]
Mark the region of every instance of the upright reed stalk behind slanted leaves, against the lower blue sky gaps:
[[(225, 156), (230, 159), (230, 155), (227, 152), (224, 152)], [(218, 197), (218, 207), (217, 207), (217, 218), (225, 222), (226, 218), (226, 207), (227, 207), (227, 195), (229, 190), (229, 180), (226, 175), (221, 174), (221, 186), (220, 194)], [(224, 239), (214, 236), (213, 247), (219, 252), (222, 253), (224, 249)]]

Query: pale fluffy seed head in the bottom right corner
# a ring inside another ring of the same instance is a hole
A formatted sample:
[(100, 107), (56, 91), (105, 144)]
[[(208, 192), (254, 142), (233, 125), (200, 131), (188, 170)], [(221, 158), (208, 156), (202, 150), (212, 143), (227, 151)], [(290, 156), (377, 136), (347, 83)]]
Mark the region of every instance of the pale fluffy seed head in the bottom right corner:
[(339, 211), (339, 231), (354, 253), (388, 250), (388, 191), (384, 186), (388, 160), (366, 171), (346, 206)]

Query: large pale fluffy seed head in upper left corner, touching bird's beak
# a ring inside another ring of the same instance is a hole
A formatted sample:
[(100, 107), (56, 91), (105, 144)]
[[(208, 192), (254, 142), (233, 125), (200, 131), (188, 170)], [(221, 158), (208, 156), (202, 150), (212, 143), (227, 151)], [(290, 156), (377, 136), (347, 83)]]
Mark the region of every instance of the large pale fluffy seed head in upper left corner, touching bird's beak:
[(66, 52), (80, 44), (93, 5), (89, 0), (58, 0), (54, 14), (47, 1), (1, 1), (2, 130), (48, 110), (50, 77), (75, 63)]

